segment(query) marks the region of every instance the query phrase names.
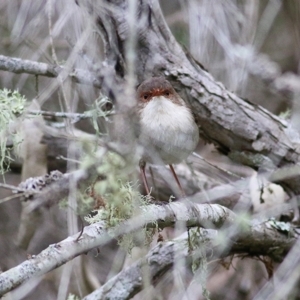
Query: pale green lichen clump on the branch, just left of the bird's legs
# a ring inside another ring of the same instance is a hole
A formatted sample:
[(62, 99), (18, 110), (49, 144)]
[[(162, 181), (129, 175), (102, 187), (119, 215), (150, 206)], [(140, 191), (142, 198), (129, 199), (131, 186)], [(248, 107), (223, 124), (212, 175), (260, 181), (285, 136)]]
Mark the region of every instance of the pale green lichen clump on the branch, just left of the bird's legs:
[[(95, 195), (99, 195), (105, 205), (85, 217), (88, 223), (105, 221), (108, 232), (130, 218), (137, 216), (149, 204), (149, 197), (142, 196), (137, 184), (128, 175), (126, 161), (118, 154), (107, 152), (98, 167), (98, 180), (93, 185)], [(128, 252), (135, 245), (148, 244), (152, 240), (153, 229), (146, 227), (138, 233), (132, 232), (118, 238), (119, 244)]]

